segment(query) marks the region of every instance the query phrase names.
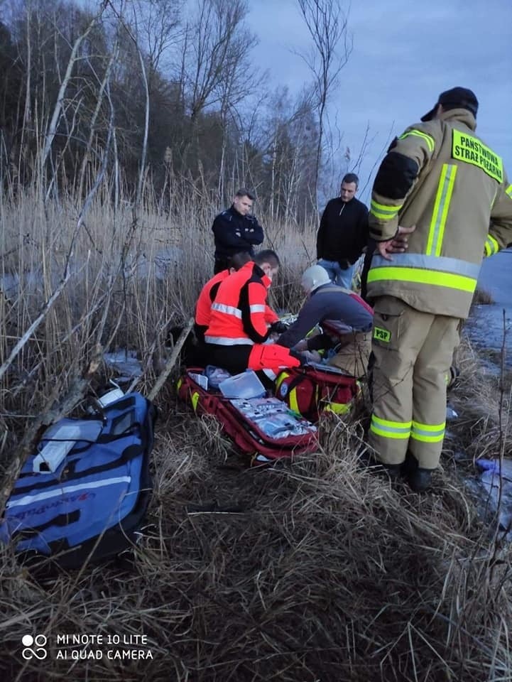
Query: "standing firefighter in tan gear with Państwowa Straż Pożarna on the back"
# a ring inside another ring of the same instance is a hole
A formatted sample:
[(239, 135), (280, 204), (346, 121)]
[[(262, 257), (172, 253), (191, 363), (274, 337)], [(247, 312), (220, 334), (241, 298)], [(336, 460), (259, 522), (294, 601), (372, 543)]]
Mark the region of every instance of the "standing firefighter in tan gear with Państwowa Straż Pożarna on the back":
[[(422, 123), (395, 139), (376, 175), (369, 215), (377, 242), (369, 445), (392, 479), (430, 485), (445, 435), (446, 374), (483, 256), (512, 242), (512, 185), (474, 131), (478, 102), (442, 92)], [(409, 248), (389, 255), (399, 233)]]

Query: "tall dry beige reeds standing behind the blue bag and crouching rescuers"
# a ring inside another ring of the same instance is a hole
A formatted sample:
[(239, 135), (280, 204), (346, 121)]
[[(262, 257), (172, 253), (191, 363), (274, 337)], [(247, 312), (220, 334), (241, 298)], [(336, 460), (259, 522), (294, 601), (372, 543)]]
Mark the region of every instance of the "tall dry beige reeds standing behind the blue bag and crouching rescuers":
[[(0, 197), (0, 366), (9, 365), (0, 407), (13, 420), (6, 422), (9, 434), (23, 429), (26, 416), (37, 414), (48, 396), (65, 391), (98, 343), (105, 352), (136, 350), (153, 380), (153, 353), (168, 328), (190, 316), (212, 276), (211, 225), (224, 208), (201, 200), (185, 181), (177, 183), (165, 209), (148, 191), (134, 220), (131, 202), (113, 206), (105, 180), (75, 239), (78, 202), (72, 197), (48, 201), (37, 189)], [(311, 258), (314, 231), (258, 217), (266, 227), (264, 246), (283, 259), (276, 305), (290, 307), (300, 269)], [(6, 363), (67, 269), (69, 279), (43, 323)]]

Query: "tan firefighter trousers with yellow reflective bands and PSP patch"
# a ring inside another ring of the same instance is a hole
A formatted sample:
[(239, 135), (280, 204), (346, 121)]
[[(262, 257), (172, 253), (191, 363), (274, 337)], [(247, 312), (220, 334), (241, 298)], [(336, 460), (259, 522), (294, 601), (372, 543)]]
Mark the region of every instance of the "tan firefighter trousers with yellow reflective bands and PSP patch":
[(446, 422), (446, 377), (459, 343), (459, 318), (423, 313), (394, 296), (374, 308), (373, 411), (369, 444), (383, 464), (409, 452), (437, 467)]

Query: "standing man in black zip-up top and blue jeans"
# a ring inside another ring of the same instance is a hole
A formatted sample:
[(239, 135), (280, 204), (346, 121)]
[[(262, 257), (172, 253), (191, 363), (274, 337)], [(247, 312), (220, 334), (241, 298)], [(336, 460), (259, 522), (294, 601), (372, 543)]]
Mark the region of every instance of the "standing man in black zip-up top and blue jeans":
[(340, 196), (327, 202), (317, 234), (318, 265), (339, 286), (352, 288), (354, 263), (368, 241), (368, 209), (355, 194), (359, 178), (347, 173)]

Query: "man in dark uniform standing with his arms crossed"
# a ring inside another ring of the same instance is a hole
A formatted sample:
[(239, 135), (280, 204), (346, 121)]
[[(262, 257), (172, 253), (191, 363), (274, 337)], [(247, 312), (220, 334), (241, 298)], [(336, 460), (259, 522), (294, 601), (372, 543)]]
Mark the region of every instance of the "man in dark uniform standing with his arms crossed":
[(232, 206), (219, 213), (212, 230), (215, 238), (214, 274), (229, 268), (234, 254), (247, 253), (254, 256), (254, 246), (263, 242), (263, 227), (254, 215), (249, 215), (254, 201), (246, 188), (236, 193)]

